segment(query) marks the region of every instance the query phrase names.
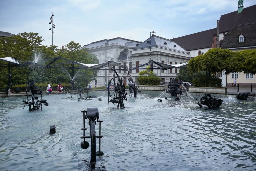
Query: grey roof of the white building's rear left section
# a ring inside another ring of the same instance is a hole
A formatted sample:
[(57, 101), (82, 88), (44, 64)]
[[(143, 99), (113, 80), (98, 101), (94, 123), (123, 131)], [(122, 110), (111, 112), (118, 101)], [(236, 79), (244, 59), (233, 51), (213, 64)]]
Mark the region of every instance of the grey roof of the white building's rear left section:
[(104, 39), (104, 40), (100, 40), (100, 41), (97, 41), (97, 42), (92, 42), (92, 43), (90, 43), (88, 45), (84, 45), (80, 49), (105, 46), (105, 43), (107, 43), (107, 45), (118, 43), (121, 46), (136, 47), (136, 44), (141, 43), (141, 42), (135, 41), (135, 40), (131, 40), (131, 39), (122, 38), (122, 37), (116, 37), (116, 38), (112, 38), (112, 39)]

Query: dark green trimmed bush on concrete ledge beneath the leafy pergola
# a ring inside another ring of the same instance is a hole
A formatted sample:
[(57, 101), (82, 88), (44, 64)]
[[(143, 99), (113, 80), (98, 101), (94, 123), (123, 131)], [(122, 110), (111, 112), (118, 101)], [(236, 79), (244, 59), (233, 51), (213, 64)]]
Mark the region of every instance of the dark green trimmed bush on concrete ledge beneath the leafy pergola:
[[(207, 86), (206, 86), (206, 83), (207, 83)], [(207, 82), (206, 82), (206, 77), (199, 77), (199, 78), (193, 79), (193, 84), (195, 87), (221, 87), (221, 79), (210, 77), (207, 79)]]

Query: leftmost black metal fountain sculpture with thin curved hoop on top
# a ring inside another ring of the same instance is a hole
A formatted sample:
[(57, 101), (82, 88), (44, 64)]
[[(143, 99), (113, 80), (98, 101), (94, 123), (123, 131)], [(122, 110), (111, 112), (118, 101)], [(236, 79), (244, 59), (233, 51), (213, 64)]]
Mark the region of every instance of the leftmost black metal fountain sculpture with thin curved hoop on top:
[[(42, 110), (42, 104), (44, 104), (45, 106), (49, 106), (49, 104), (47, 103), (47, 100), (43, 100), (42, 99), (42, 90), (37, 90), (37, 86), (35, 85), (34, 80), (30, 80), (28, 83), (28, 86), (30, 88), (30, 95), (28, 94), (27, 90), (26, 90), (26, 99), (23, 100), (23, 102), (25, 103), (23, 109), (25, 108), (26, 104), (29, 106), (29, 111), (32, 110), (37, 110), (41, 107)], [(38, 100), (38, 96), (35, 95), (41, 95), (41, 99)], [(28, 99), (29, 97), (32, 97), (32, 99)], [(33, 106), (31, 108), (31, 106)]]

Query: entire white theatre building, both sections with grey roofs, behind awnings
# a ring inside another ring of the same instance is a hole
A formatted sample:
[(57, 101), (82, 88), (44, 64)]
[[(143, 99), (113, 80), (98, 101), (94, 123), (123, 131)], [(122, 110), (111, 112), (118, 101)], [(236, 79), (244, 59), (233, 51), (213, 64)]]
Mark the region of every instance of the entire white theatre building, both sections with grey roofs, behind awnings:
[[(161, 43), (160, 43), (161, 42)], [(161, 45), (161, 47), (160, 47)], [(121, 37), (105, 39), (85, 45), (82, 48), (89, 48), (90, 53), (96, 55), (100, 63), (106, 61), (115, 61), (129, 68), (135, 68), (150, 61), (161, 62), (165, 64), (182, 64), (188, 62), (191, 58), (190, 53), (172, 40), (152, 35), (144, 42), (138, 42)], [(145, 67), (143, 67), (145, 68)], [(134, 69), (130, 71), (134, 81), (137, 81), (138, 74), (143, 69)], [(93, 86), (104, 86), (108, 84), (108, 68), (99, 71)], [(127, 71), (118, 71), (119, 75), (127, 81)], [(177, 68), (168, 70), (154, 70), (154, 73), (162, 79), (162, 82), (169, 82), (176, 78)], [(126, 82), (125, 82), (126, 84)]]

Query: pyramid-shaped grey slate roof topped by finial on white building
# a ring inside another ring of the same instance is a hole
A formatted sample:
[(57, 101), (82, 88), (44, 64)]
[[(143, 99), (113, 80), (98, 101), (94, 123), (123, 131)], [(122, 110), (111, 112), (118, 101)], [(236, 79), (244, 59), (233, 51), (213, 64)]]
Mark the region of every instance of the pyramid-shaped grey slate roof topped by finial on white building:
[[(151, 41), (151, 45), (150, 45), (150, 41)], [(174, 47), (174, 45), (176, 45), (176, 47)], [(159, 36), (156, 36), (153, 34), (150, 38), (146, 39), (143, 43), (141, 43), (137, 47), (133, 48), (133, 50), (150, 48), (150, 47), (160, 47), (160, 37)], [(174, 51), (184, 52), (184, 53), (189, 54), (189, 52), (187, 52), (184, 48), (182, 48), (176, 42), (166, 39), (166, 38), (163, 38), (163, 37), (161, 37), (161, 48), (171, 49)]]

